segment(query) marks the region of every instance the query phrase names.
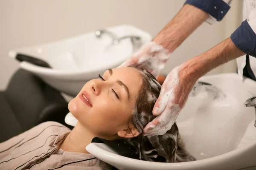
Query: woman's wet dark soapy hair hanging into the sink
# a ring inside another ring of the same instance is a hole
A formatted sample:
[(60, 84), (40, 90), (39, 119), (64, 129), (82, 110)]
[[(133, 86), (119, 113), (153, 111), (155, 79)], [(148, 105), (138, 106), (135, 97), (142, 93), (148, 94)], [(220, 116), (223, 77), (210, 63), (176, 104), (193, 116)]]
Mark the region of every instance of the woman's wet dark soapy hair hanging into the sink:
[(136, 108), (131, 116), (131, 123), (140, 132), (134, 138), (122, 138), (126, 144), (135, 147), (140, 159), (157, 162), (194, 161), (185, 149), (176, 123), (164, 135), (143, 136), (143, 128), (156, 116), (152, 110), (160, 94), (161, 85), (157, 79), (143, 69), (137, 69), (142, 75), (143, 83), (136, 100)]

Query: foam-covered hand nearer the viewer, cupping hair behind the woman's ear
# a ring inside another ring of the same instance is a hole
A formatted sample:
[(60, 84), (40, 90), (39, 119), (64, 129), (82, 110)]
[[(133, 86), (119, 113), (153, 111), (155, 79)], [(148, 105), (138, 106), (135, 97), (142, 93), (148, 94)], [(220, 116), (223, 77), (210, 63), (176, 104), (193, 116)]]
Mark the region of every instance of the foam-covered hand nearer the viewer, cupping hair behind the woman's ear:
[(144, 135), (163, 135), (171, 129), (197, 80), (188, 71), (189, 67), (183, 64), (167, 75), (153, 109), (157, 117), (145, 126)]

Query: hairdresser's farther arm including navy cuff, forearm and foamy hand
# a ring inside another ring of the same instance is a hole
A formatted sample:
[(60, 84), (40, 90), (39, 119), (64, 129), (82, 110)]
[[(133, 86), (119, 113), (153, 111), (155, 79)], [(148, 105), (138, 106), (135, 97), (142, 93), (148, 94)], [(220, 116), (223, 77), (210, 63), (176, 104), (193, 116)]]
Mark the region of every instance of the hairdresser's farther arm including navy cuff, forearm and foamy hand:
[(119, 67), (137, 67), (150, 71), (157, 77), (170, 54), (204, 21), (222, 20), (230, 0), (186, 0), (178, 14), (150, 42), (134, 53)]

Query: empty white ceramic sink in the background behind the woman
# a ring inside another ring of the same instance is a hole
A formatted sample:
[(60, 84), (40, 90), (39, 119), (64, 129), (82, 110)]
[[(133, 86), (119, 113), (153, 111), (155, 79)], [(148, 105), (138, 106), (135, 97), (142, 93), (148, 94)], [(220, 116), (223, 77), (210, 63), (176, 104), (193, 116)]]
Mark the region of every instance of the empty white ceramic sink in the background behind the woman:
[[(141, 45), (151, 41), (151, 35), (129, 25), (105, 28), (117, 38), (125, 36), (141, 37)], [(95, 30), (96, 31), (96, 30)], [(108, 68), (115, 68), (134, 53), (131, 39), (120, 40), (112, 44), (108, 34), (97, 38), (95, 31), (32, 47), (19, 48), (9, 52), (15, 58), (17, 54), (26, 54), (47, 62), (51, 68), (20, 62), (20, 67), (41, 77), (52, 87), (65, 94), (76, 96), (82, 86), (96, 78)]]

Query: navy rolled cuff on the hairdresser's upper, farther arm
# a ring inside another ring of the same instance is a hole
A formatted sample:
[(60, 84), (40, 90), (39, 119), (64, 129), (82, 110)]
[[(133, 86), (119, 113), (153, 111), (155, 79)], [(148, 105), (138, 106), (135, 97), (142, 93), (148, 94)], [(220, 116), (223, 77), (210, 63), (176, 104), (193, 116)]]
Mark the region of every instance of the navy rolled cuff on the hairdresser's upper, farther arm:
[(230, 9), (230, 6), (223, 0), (186, 0), (185, 4), (200, 8), (217, 21), (221, 21)]

